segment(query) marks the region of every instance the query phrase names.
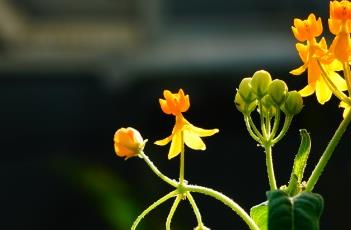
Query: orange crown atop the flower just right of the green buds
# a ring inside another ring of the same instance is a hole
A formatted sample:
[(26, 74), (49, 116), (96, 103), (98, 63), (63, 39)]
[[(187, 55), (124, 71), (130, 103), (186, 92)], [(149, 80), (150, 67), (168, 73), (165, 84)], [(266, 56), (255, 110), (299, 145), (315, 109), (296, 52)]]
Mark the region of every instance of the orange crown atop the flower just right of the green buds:
[(294, 36), (300, 42), (312, 40), (323, 32), (322, 20), (314, 14), (310, 14), (307, 20), (294, 19), (294, 26), (291, 27)]

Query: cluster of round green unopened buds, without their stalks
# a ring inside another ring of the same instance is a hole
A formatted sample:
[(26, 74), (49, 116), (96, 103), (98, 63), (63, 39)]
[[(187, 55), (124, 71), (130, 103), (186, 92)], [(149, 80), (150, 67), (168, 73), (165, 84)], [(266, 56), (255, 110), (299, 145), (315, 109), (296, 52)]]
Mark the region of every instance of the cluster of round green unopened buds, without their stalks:
[(251, 78), (244, 78), (237, 90), (234, 99), (237, 109), (249, 115), (259, 103), (262, 108), (260, 113), (274, 116), (277, 109), (286, 115), (294, 116), (303, 107), (301, 95), (296, 91), (288, 91), (284, 81), (275, 79), (265, 70), (259, 70)]

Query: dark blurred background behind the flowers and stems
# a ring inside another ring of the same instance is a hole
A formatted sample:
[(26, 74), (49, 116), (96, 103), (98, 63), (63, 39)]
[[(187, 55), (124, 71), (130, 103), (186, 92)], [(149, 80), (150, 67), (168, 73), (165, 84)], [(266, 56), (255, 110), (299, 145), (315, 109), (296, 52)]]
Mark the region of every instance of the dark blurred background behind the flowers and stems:
[[(132, 126), (149, 139), (146, 153), (178, 177), (179, 159), (152, 143), (169, 135), (163, 89), (190, 94), (186, 117), (203, 128), (207, 151), (187, 149), (186, 179), (232, 197), (249, 210), (266, 199), (264, 153), (235, 109), (243, 77), (266, 69), (301, 89), (306, 75), (291, 33), (294, 17), (323, 17), (328, 1), (270, 0), (0, 0), (1, 229), (130, 229), (171, 188), (137, 158), (113, 150), (113, 134)], [(330, 42), (330, 38), (328, 38)], [(287, 183), (299, 129), (312, 136), (308, 177), (341, 121), (338, 102), (315, 96), (273, 149), (279, 185)], [(325, 198), (321, 229), (351, 229), (351, 129), (315, 191)], [(307, 178), (306, 178), (307, 179)], [(218, 201), (194, 194), (211, 229), (246, 229)], [(164, 229), (171, 201), (139, 229)], [(192, 229), (182, 202), (173, 229)]]

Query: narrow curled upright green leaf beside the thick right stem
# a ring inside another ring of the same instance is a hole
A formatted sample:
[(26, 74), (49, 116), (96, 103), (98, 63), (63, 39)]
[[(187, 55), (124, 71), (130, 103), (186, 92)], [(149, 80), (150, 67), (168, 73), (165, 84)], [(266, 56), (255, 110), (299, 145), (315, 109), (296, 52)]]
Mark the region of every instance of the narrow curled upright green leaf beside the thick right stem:
[[(303, 173), (307, 164), (307, 159), (311, 151), (311, 137), (306, 129), (300, 130), (301, 143), (299, 150), (295, 156), (293, 169), (290, 176), (288, 191), (290, 195), (299, 192), (299, 186), (303, 179)], [(297, 179), (297, 181), (296, 181)], [(295, 181), (294, 181), (295, 180)], [(297, 183), (296, 183), (297, 182)]]

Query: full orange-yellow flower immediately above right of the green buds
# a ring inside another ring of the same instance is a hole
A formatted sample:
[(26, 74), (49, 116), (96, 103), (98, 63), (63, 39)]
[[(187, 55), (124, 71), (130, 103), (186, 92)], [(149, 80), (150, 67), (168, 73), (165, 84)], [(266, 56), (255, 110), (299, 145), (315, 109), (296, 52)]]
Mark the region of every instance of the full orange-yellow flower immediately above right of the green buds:
[(324, 38), (319, 42), (316, 41), (315, 37), (319, 36), (323, 31), (320, 18), (316, 20), (314, 14), (310, 14), (307, 20), (295, 19), (294, 25), (295, 27), (292, 27), (292, 31), (296, 39), (301, 42), (306, 41), (306, 44), (296, 44), (296, 49), (304, 64), (290, 71), (290, 73), (301, 75), (307, 69), (308, 85), (300, 90), (299, 93), (303, 97), (316, 93), (318, 102), (324, 104), (330, 100), (332, 91), (322, 77), (318, 61), (324, 66), (330, 80), (341, 91), (347, 89), (346, 82), (335, 71), (340, 70), (342, 66), (338, 61), (331, 62), (330, 59), (325, 58), (328, 48)]

